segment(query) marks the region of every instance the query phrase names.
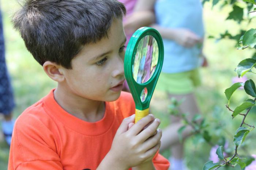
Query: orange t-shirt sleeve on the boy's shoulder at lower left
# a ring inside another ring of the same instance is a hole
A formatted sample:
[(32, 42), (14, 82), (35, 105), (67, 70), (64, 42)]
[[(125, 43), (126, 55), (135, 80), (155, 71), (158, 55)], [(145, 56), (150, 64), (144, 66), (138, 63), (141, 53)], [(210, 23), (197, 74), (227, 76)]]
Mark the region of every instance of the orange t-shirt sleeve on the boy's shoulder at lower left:
[(8, 170), (63, 170), (52, 132), (33, 115), (16, 120)]

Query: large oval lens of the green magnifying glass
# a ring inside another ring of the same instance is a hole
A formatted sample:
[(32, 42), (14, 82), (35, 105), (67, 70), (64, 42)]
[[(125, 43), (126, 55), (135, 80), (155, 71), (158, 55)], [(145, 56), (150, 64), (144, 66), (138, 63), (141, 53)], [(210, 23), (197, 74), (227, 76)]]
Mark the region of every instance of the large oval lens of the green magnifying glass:
[(139, 83), (147, 82), (155, 72), (158, 62), (158, 45), (155, 38), (147, 35), (140, 40), (132, 67), (134, 80)]

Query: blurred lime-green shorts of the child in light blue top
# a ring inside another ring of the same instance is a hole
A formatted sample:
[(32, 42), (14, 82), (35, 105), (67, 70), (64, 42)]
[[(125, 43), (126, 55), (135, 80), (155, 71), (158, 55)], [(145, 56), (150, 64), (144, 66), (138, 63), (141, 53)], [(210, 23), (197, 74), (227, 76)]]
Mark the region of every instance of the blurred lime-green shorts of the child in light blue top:
[(155, 89), (170, 94), (188, 94), (200, 84), (199, 70), (195, 69), (181, 73), (161, 73)]

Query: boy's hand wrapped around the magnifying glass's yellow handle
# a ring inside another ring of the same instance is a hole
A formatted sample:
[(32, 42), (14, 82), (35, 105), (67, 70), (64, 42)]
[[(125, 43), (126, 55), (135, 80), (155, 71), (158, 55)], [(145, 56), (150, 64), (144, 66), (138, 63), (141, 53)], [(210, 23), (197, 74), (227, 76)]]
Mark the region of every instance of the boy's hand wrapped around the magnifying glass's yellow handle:
[(120, 169), (151, 161), (160, 147), (162, 132), (157, 130), (160, 120), (148, 115), (132, 124), (134, 118), (131, 116), (123, 120), (108, 153)]

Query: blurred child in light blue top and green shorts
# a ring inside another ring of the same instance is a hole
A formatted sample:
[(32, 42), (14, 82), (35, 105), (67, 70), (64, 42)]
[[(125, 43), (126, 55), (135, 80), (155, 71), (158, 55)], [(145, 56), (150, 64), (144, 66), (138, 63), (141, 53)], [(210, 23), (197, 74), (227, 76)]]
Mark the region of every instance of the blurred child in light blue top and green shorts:
[[(204, 26), (202, 19), (202, 4), (200, 0), (150, 0), (151, 9), (155, 12), (157, 29), (164, 44), (164, 61), (156, 91), (167, 95), (167, 106), (174, 97), (184, 100), (179, 106), (179, 113), (189, 113), (189, 119), (199, 113), (194, 90), (200, 85), (198, 68), (207, 65), (202, 54)], [(202, 57), (202, 58), (200, 58)], [(202, 60), (204, 59), (204, 60)], [(204, 61), (204, 62), (202, 62)], [(162, 105), (162, 96), (154, 96), (153, 105)], [(183, 161), (184, 143), (179, 141), (177, 130), (182, 127), (179, 117), (171, 116), (171, 125), (164, 131), (160, 151), (171, 150), (171, 169), (185, 170)], [(183, 138), (191, 134), (186, 128)]]

